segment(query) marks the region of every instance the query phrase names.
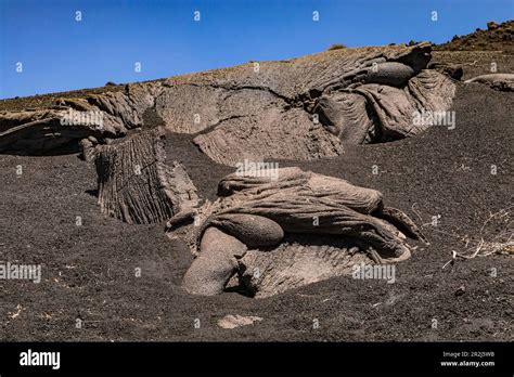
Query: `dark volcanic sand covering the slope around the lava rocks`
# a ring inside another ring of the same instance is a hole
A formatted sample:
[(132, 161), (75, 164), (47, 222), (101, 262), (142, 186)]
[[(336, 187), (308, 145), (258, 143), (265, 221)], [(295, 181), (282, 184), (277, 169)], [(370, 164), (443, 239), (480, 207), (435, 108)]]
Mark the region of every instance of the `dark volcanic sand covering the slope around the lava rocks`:
[[(259, 300), (183, 291), (189, 250), (165, 236), (164, 223), (128, 225), (102, 216), (91, 194), (93, 167), (77, 155), (0, 156), (0, 261), (42, 264), (40, 284), (0, 281), (1, 339), (512, 340), (512, 256), (441, 266), (451, 250), (466, 251), (455, 235), (492, 237), (510, 226), (490, 221), (480, 234), (490, 213), (513, 203), (513, 100), (485, 86), (460, 86), (454, 130), (433, 127), (415, 139), (354, 147), (330, 160), (281, 164), (380, 190), (387, 204), (427, 223), (431, 245), (417, 245), (397, 264), (394, 284), (343, 276)], [(232, 169), (211, 162), (190, 140), (171, 135), (168, 158), (183, 161), (202, 195), (214, 197)], [(461, 286), (464, 294), (457, 295)], [(262, 321), (222, 329), (217, 321), (227, 314)]]

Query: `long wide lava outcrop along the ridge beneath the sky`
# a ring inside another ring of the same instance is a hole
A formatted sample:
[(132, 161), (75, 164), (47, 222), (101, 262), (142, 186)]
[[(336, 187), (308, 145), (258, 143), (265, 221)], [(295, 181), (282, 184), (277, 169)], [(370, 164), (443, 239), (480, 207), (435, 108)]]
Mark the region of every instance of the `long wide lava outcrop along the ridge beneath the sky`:
[[(427, 68), (431, 49), (342, 49), (57, 99), (48, 108), (0, 113), (0, 152), (52, 153), (90, 136), (103, 144), (155, 126), (145, 122), (152, 114), (170, 132), (194, 134), (224, 165), (337, 156), (345, 143), (415, 135), (428, 126), (414, 125), (414, 112), (449, 108), (454, 83)], [(68, 113), (72, 126), (60, 121)]]

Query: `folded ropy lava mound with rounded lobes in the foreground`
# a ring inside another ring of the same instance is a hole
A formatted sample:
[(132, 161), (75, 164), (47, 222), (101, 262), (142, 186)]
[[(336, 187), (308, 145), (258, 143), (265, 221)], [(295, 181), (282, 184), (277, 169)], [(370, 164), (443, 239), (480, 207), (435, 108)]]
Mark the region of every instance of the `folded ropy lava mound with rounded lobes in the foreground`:
[(180, 213), (168, 223), (170, 233), (190, 235), (196, 259), (184, 288), (196, 295), (221, 294), (239, 273), (252, 295), (270, 296), (356, 263), (402, 261), (411, 255), (406, 236), (423, 239), (380, 192), (298, 168), (279, 169), (277, 180), (229, 174), (218, 192), (218, 200), (191, 213), (195, 224), (180, 229)]

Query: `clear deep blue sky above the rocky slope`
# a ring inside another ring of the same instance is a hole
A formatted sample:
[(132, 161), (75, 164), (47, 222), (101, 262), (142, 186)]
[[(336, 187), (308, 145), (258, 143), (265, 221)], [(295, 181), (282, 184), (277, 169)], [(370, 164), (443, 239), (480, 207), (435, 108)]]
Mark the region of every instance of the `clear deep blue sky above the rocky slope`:
[(512, 18), (514, 0), (0, 0), (0, 98), (288, 58), (332, 43), (444, 42)]

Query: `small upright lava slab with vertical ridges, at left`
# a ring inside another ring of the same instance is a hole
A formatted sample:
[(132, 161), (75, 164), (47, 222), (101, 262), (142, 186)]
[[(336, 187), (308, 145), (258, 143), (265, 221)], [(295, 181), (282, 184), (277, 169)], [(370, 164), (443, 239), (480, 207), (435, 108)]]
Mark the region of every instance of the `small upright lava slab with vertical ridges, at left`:
[(168, 220), (197, 205), (193, 182), (181, 164), (166, 165), (164, 131), (141, 132), (92, 151), (101, 211), (128, 223)]

